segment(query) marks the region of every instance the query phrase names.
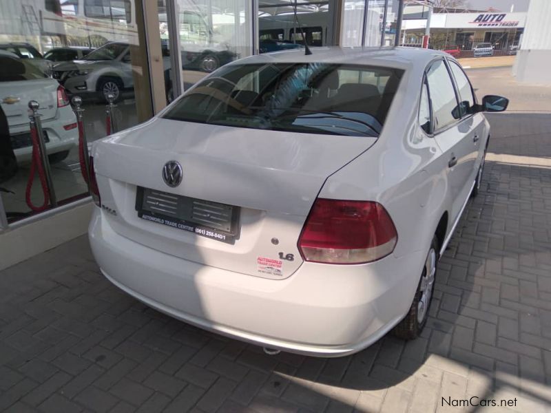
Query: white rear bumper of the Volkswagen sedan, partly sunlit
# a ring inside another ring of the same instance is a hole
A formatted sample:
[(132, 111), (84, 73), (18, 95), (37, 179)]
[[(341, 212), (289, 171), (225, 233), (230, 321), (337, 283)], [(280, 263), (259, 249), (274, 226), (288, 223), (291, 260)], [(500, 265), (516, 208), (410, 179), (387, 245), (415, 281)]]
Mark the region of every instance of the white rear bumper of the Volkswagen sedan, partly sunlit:
[(148, 306), (258, 346), (322, 357), (360, 351), (393, 328), (424, 263), (424, 253), (366, 265), (304, 263), (287, 279), (264, 279), (138, 244), (115, 233), (99, 209), (89, 237), (107, 279)]

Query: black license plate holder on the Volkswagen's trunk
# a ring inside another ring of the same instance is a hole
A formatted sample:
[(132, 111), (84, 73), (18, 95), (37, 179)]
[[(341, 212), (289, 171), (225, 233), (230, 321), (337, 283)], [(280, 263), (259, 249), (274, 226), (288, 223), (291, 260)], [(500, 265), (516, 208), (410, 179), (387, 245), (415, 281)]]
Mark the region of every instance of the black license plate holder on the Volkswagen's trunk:
[(143, 220), (227, 244), (240, 236), (240, 208), (233, 205), (138, 187), (136, 211)]

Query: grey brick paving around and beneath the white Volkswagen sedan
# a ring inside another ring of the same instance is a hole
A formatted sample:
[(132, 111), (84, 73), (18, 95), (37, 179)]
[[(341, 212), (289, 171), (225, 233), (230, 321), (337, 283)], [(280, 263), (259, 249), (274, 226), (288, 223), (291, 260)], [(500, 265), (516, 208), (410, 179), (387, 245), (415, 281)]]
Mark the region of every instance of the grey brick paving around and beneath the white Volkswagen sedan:
[(80, 237), (0, 272), (0, 410), (459, 412), (476, 408), (442, 398), (477, 396), (550, 411), (551, 120), (491, 121), (482, 193), (441, 259), (419, 339), (267, 356), (128, 297)]

